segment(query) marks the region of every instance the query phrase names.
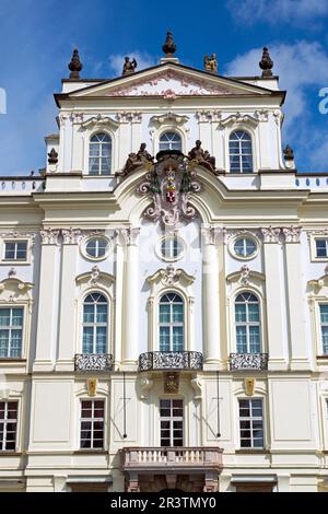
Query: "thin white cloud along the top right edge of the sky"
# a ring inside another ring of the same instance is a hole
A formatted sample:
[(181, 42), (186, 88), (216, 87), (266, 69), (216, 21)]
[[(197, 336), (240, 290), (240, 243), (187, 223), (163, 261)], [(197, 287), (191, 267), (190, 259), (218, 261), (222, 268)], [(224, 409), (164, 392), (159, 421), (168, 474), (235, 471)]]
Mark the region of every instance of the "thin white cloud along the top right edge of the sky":
[(227, 0), (226, 5), (234, 20), (249, 25), (257, 22), (317, 25), (321, 16), (328, 15), (327, 0)]

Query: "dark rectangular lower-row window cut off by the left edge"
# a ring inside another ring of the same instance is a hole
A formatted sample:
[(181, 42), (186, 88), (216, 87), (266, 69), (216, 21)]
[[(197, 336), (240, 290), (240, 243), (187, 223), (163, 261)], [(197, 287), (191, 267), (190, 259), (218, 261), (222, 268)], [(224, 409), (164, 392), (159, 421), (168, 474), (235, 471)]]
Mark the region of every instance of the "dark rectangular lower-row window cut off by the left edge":
[(17, 432), (17, 401), (0, 401), (0, 451), (14, 452)]

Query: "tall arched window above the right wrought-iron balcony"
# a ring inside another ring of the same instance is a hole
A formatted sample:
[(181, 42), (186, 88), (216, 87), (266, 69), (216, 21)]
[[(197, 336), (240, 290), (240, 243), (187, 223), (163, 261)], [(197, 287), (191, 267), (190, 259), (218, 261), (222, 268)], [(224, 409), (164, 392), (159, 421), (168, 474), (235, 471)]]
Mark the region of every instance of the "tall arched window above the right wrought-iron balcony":
[(260, 353), (259, 301), (247, 291), (235, 300), (235, 327), (237, 353)]

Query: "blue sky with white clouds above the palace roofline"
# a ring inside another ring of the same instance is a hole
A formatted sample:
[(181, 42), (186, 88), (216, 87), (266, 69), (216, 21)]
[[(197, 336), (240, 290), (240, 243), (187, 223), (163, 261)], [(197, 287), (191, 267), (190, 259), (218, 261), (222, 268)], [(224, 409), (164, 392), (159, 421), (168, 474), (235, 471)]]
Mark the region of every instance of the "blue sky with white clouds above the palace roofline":
[(1, 0), (0, 21), (0, 175), (45, 165), (44, 136), (56, 131), (52, 94), (75, 46), (83, 77), (112, 78), (125, 55), (137, 57), (138, 69), (156, 63), (167, 28), (181, 63), (201, 69), (214, 51), (220, 74), (258, 73), (268, 45), (288, 90), (284, 142), (300, 171), (328, 172), (328, 114), (318, 109), (328, 87), (327, 0)]

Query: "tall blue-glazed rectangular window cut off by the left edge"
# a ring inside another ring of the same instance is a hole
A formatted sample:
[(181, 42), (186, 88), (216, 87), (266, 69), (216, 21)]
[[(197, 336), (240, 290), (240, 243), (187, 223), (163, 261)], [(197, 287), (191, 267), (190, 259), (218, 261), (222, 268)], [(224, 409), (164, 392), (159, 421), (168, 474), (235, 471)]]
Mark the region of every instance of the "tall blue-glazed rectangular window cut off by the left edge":
[(0, 307), (0, 359), (22, 357), (23, 317), (23, 307)]

